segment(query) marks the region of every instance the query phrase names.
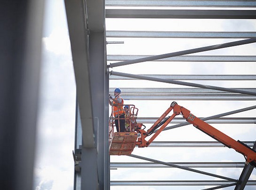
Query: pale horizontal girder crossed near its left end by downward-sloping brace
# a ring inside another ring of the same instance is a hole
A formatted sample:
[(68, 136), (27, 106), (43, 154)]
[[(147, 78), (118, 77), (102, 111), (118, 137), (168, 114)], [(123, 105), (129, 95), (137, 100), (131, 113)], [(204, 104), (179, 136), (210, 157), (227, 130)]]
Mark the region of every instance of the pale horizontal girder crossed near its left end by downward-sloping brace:
[[(171, 79), (171, 80), (256, 80), (256, 75), (140, 75), (140, 76), (149, 76), (155, 78)], [(124, 77), (124, 76), (109, 76), (110, 80), (140, 80), (136, 78)], [(110, 88), (110, 92), (114, 88)], [(124, 88), (122, 88), (123, 90)], [(132, 91), (133, 92), (132, 88)], [(158, 88), (160, 89), (160, 88)], [(174, 89), (174, 88), (173, 88)], [(178, 90), (178, 88), (175, 88)], [(184, 89), (184, 88), (180, 88)], [(202, 89), (204, 90), (204, 89)], [(206, 89), (205, 89), (206, 90)], [(249, 90), (249, 89), (248, 89)], [(253, 90), (253, 89), (252, 89)], [(126, 91), (126, 90), (125, 90)]]

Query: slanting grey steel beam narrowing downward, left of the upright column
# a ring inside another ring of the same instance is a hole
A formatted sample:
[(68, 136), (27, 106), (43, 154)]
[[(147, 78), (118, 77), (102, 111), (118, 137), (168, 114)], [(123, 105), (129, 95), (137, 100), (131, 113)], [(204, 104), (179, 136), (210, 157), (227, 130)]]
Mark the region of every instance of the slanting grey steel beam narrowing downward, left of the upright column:
[[(93, 139), (93, 108), (89, 76), (88, 21), (82, 0), (65, 0), (72, 59), (77, 85), (77, 99), (83, 129), (83, 146), (95, 147)], [(76, 22), (74, 22), (76, 21)]]

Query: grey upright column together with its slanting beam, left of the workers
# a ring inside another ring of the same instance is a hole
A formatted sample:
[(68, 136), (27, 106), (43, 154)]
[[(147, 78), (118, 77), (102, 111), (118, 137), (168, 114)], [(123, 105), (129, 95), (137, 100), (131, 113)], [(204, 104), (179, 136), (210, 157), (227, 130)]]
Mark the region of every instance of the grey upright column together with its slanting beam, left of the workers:
[(65, 0), (65, 7), (77, 84), (74, 189), (108, 190), (105, 1)]

